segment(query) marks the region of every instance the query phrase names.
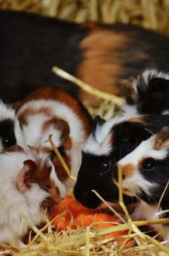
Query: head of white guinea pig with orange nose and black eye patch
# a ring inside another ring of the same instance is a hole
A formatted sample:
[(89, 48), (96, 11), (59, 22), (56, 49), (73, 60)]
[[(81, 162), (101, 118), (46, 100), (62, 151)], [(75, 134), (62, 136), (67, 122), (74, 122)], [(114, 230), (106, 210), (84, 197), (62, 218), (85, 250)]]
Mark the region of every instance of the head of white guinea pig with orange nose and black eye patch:
[[(143, 141), (119, 161), (122, 168), (122, 190), (129, 196), (158, 204), (168, 182), (169, 172), (169, 127)], [(113, 169), (113, 181), (118, 186), (117, 165)], [(163, 196), (166, 202), (169, 189)]]

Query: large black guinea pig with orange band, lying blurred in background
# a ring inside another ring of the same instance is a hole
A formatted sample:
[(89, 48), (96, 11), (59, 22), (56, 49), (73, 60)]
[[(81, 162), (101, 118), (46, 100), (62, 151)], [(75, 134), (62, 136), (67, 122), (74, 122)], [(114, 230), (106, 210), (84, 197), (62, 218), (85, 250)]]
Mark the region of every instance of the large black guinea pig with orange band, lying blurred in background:
[[(81, 25), (1, 10), (0, 34), (0, 95), (5, 102), (20, 101), (47, 85), (77, 95), (77, 86), (52, 73), (54, 65), (116, 95), (124, 95), (124, 79), (147, 67), (168, 67), (168, 37), (135, 25)], [(80, 91), (81, 99), (86, 96)]]

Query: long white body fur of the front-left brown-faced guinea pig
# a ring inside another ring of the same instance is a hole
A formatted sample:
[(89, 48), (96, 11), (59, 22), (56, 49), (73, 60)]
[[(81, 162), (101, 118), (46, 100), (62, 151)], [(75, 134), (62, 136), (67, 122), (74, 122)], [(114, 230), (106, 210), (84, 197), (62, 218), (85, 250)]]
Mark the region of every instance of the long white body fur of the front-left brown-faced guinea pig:
[(28, 225), (21, 215), (25, 215), (34, 225), (39, 225), (45, 217), (40, 204), (48, 197), (38, 184), (32, 184), (24, 194), (16, 188), (16, 177), (23, 168), (23, 162), (31, 159), (24, 153), (0, 154), (0, 241), (18, 243)]

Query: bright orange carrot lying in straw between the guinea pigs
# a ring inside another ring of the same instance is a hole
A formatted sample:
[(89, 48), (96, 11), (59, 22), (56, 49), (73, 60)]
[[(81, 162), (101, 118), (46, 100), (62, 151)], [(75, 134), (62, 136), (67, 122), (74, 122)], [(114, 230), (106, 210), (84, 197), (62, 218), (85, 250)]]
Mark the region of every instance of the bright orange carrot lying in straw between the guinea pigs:
[[(64, 214), (56, 218), (53, 222), (56, 229), (59, 231), (67, 229), (68, 226), (71, 227), (71, 229), (77, 229), (77, 227), (86, 227), (93, 224), (93, 229), (106, 229), (118, 225), (116, 224), (118, 220), (116, 216), (108, 215), (106, 213), (98, 213), (97, 211), (91, 212), (71, 196), (66, 196), (61, 204), (55, 207), (56, 216), (60, 215), (62, 212), (64, 212)], [(128, 230), (124, 230), (107, 234), (104, 238), (116, 237), (117, 241), (122, 244), (125, 238), (122, 238), (121, 236), (127, 234)], [(125, 247), (131, 246), (134, 246), (133, 239), (129, 239), (125, 245)]]

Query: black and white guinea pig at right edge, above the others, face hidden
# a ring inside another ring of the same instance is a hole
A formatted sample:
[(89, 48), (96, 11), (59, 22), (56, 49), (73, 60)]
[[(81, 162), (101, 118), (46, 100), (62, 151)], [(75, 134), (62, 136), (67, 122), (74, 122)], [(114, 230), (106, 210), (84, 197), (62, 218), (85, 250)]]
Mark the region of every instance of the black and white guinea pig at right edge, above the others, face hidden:
[(126, 113), (169, 113), (169, 73), (148, 69), (137, 78), (129, 79), (126, 86)]

